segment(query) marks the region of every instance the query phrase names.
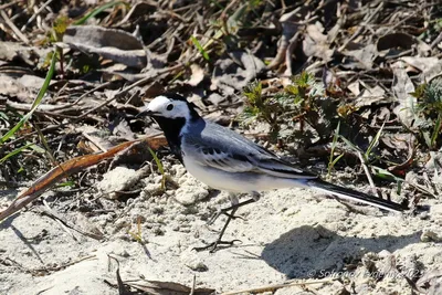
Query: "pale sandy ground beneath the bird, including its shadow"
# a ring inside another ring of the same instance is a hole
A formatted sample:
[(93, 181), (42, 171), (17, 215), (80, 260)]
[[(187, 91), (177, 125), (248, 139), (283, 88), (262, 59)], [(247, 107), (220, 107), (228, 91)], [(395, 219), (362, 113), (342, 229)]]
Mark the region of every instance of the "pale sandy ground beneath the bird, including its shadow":
[[(101, 231), (104, 241), (63, 229), (40, 214), (39, 207), (6, 220), (0, 224), (0, 294), (118, 294), (105, 282), (116, 284), (116, 263), (108, 254), (118, 260), (124, 281), (144, 277), (190, 286), (194, 276), (197, 286), (219, 293), (323, 278), (325, 283), (274, 294), (346, 294), (344, 288), (358, 294), (412, 294), (403, 276), (413, 280), (442, 267), (441, 200), (425, 201), (429, 211), (411, 217), (349, 208), (296, 188), (265, 192), (256, 203), (240, 209), (242, 219), (231, 223), (225, 239), (241, 243), (215, 253), (196, 252), (192, 247), (217, 238), (225, 218), (211, 226), (206, 222), (229, 204), (229, 198), (209, 190), (182, 167), (173, 169), (178, 190), (156, 194), (158, 177), (150, 176), (138, 183), (141, 194), (120, 210), (90, 218), (78, 210), (59, 210), (83, 229)], [(11, 196), (13, 191), (3, 192), (0, 202), (7, 203)], [(136, 231), (138, 218), (145, 246), (128, 234), (129, 226)]]

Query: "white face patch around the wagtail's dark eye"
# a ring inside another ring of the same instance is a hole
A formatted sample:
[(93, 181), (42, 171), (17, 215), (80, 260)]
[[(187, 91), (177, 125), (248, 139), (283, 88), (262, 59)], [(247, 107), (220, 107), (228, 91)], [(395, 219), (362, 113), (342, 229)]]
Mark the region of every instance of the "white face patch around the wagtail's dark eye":
[[(172, 107), (170, 105), (172, 105)], [(147, 105), (147, 109), (154, 112), (159, 117), (191, 118), (190, 109), (186, 102), (171, 99), (164, 95), (155, 97)]]

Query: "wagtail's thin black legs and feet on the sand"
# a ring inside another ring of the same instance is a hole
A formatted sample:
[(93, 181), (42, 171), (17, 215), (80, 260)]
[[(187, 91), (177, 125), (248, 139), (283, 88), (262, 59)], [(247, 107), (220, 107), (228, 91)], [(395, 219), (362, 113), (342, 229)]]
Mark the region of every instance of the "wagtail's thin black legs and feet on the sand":
[[(194, 247), (194, 250), (197, 250), (197, 251), (203, 251), (203, 250), (210, 249), (210, 253), (213, 253), (214, 251), (217, 251), (218, 245), (233, 245), (234, 242), (239, 242), (239, 240), (222, 241), (222, 236), (224, 235), (224, 232), (225, 232), (225, 230), (227, 230), (227, 228), (228, 228), (230, 221), (231, 221), (232, 219), (235, 219), (235, 218), (236, 218), (236, 217), (234, 215), (234, 213), (236, 212), (236, 210), (238, 210), (240, 207), (243, 207), (243, 206), (249, 204), (249, 203), (253, 203), (253, 202), (257, 201), (259, 199), (260, 199), (260, 194), (259, 194), (257, 192), (253, 192), (251, 199), (249, 199), (249, 200), (246, 200), (246, 201), (243, 201), (243, 202), (236, 202), (236, 203), (233, 203), (233, 201), (232, 201), (233, 204), (232, 204), (231, 207), (228, 207), (228, 208), (224, 208), (224, 209), (219, 210), (219, 211), (217, 212), (217, 214), (215, 214), (209, 222), (213, 223), (214, 220), (215, 220), (220, 214), (225, 214), (225, 215), (228, 217), (228, 220), (225, 221), (224, 225), (222, 226), (222, 229), (221, 229), (221, 231), (220, 231), (220, 234), (218, 235), (217, 241), (214, 241), (213, 243), (210, 243), (210, 244), (208, 244), (208, 245), (206, 245), (206, 246)], [(236, 199), (236, 200), (238, 200), (238, 199)], [(229, 212), (229, 211), (230, 211), (230, 212)], [(211, 223), (210, 223), (210, 224), (211, 224)]]

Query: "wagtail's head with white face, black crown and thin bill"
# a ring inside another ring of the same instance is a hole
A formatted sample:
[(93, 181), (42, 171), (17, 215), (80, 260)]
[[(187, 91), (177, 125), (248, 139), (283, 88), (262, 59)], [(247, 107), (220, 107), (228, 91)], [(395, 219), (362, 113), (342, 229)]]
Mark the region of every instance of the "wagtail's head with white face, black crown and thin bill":
[(140, 116), (150, 116), (158, 120), (194, 120), (200, 116), (194, 109), (194, 105), (186, 101), (179, 94), (164, 94), (155, 97), (146, 108), (138, 114)]

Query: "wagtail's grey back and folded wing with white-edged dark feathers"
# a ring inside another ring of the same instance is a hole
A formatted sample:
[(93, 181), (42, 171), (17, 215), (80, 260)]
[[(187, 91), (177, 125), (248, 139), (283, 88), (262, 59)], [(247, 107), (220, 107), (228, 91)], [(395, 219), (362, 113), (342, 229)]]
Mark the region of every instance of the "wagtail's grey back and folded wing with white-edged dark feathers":
[(284, 178), (317, 178), (235, 131), (215, 124), (209, 123), (200, 136), (188, 136), (186, 141), (192, 146), (194, 160), (228, 172), (253, 171)]

